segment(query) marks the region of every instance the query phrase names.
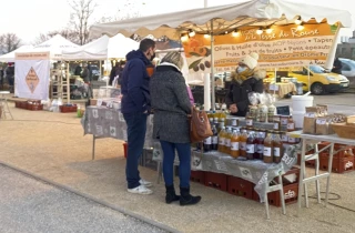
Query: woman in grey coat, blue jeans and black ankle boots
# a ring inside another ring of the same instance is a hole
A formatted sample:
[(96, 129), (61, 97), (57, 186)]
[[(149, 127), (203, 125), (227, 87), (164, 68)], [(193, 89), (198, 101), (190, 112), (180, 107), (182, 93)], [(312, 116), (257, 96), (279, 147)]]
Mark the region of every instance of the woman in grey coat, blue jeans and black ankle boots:
[[(152, 109), (154, 110), (153, 138), (159, 139), (164, 153), (163, 175), (165, 181), (165, 202), (180, 201), (180, 205), (192, 205), (201, 196), (190, 194), (191, 145), (190, 102), (185, 79), (182, 75), (183, 58), (180, 52), (169, 52), (158, 65), (150, 82)], [(179, 155), (180, 194), (175, 194), (173, 166), (175, 150)]]

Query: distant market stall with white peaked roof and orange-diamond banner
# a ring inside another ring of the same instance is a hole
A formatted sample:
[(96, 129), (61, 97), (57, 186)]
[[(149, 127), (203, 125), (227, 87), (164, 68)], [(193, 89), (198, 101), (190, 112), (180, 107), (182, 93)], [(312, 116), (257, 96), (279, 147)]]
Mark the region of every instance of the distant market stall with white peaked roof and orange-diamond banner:
[[(16, 52), (14, 94), (19, 98), (48, 100), (51, 92), (54, 93), (51, 98), (65, 98), (69, 102), (70, 87), (68, 77), (65, 77), (68, 67), (65, 63), (57, 63), (62, 60), (62, 50), (68, 48), (78, 48), (78, 45), (57, 34), (32, 49)], [(45, 70), (43, 70), (44, 63)], [(37, 85), (43, 89), (40, 94), (33, 95), (39, 91)]]

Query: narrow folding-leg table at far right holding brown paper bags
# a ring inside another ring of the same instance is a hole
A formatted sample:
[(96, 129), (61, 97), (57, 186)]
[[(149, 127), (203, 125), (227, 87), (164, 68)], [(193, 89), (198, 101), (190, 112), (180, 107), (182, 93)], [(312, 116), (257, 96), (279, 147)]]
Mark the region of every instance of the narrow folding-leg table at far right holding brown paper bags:
[[(288, 135), (294, 138), (301, 138), (302, 139), (302, 152), (301, 152), (301, 172), (300, 172), (300, 186), (298, 186), (298, 201), (297, 206), (300, 214), (301, 207), (302, 207), (302, 193), (303, 188), (305, 192), (305, 201), (306, 201), (306, 207), (308, 207), (308, 194), (307, 194), (307, 186), (306, 184), (310, 182), (315, 181), (316, 182), (316, 192), (317, 192), (317, 201), (321, 203), (321, 192), (320, 192), (320, 179), (326, 178), (326, 191), (325, 191), (325, 206), (328, 202), (328, 194), (329, 194), (329, 181), (331, 181), (331, 174), (332, 174), (332, 163), (333, 163), (333, 155), (336, 153), (334, 152), (334, 144), (346, 144), (346, 145), (355, 145), (355, 140), (351, 139), (343, 139), (337, 136), (336, 134), (332, 135), (313, 135), (313, 134), (305, 134), (302, 131), (294, 131), (290, 132)], [(318, 150), (317, 143), (320, 142), (329, 142), (329, 144), (322, 150)], [(316, 144), (315, 151), (312, 154), (306, 154), (306, 146), (307, 144)], [(329, 156), (328, 156), (328, 171), (326, 173), (320, 174), (320, 153), (322, 153), (325, 150), (329, 150)], [(305, 176), (305, 162), (308, 160), (315, 160), (315, 175), (314, 176)]]

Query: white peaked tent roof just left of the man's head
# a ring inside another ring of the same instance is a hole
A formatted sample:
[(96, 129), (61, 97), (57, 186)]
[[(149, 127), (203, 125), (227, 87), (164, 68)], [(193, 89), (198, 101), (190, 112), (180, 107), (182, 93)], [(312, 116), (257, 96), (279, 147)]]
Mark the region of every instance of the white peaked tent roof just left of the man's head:
[(116, 34), (113, 38), (103, 36), (77, 49), (63, 50), (63, 60), (104, 60), (123, 59), (125, 54), (139, 48), (139, 42)]

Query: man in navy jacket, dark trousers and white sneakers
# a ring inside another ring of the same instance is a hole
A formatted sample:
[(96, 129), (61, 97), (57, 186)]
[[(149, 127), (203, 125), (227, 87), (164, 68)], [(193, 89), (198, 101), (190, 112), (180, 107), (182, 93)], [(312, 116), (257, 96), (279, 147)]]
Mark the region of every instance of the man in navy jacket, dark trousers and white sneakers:
[(136, 51), (126, 54), (126, 64), (122, 72), (122, 104), (121, 112), (128, 126), (128, 158), (125, 175), (128, 191), (138, 194), (151, 194), (151, 182), (140, 178), (139, 159), (143, 152), (146, 131), (146, 118), (150, 113), (150, 77), (146, 67), (155, 57), (155, 42), (143, 39)]

